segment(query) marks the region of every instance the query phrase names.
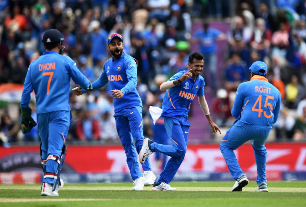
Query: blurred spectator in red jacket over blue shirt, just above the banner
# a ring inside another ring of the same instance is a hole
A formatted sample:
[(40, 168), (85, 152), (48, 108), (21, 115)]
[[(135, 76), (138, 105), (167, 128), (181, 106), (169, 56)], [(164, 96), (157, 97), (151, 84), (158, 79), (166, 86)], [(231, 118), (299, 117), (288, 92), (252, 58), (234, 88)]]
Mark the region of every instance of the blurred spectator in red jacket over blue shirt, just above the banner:
[(76, 136), (82, 141), (100, 139), (99, 122), (92, 117), (88, 109), (82, 112), (81, 120), (76, 123)]

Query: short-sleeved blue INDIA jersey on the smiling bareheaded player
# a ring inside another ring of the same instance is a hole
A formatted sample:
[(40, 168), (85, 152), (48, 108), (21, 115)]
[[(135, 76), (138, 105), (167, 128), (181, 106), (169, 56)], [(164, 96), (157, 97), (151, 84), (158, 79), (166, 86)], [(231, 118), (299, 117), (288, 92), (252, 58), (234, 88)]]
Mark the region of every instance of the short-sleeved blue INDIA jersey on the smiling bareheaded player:
[[(168, 81), (173, 81), (181, 78), (181, 76), (188, 72), (180, 71), (172, 76)], [(196, 77), (196, 81), (190, 77), (184, 82), (173, 86), (166, 90), (164, 100), (162, 102), (162, 116), (173, 117), (178, 115), (187, 116), (192, 100), (198, 96), (204, 95), (204, 79), (201, 75)]]

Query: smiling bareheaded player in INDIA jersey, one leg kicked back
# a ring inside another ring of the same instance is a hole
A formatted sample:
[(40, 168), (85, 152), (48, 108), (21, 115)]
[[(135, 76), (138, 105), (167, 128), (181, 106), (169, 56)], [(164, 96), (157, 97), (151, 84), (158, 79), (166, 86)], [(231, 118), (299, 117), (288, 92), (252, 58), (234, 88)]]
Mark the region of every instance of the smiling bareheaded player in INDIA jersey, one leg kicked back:
[(213, 134), (217, 130), (220, 132), (219, 127), (211, 120), (204, 97), (204, 79), (200, 76), (203, 66), (203, 55), (198, 52), (192, 53), (188, 59), (188, 69), (178, 72), (160, 86), (160, 90), (166, 90), (162, 102), (161, 116), (164, 118), (166, 132), (172, 145), (159, 144), (148, 138), (144, 140), (139, 153), (140, 163), (143, 163), (155, 151), (171, 157), (158, 180), (154, 183), (152, 191), (176, 190), (169, 186), (169, 182), (173, 179), (185, 157), (190, 127), (188, 112), (196, 95), (199, 98), (201, 109), (213, 129)]

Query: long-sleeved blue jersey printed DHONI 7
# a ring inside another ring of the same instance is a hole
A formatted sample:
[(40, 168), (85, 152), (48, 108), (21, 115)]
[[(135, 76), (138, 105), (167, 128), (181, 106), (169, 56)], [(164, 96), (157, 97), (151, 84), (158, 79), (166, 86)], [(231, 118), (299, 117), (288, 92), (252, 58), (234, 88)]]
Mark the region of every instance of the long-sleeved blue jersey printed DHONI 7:
[(76, 63), (68, 56), (55, 51), (44, 52), (33, 60), (25, 77), (21, 108), (28, 107), (31, 92), (36, 98), (36, 113), (51, 111), (70, 111), (70, 78), (84, 88), (90, 86), (89, 80), (79, 71)]

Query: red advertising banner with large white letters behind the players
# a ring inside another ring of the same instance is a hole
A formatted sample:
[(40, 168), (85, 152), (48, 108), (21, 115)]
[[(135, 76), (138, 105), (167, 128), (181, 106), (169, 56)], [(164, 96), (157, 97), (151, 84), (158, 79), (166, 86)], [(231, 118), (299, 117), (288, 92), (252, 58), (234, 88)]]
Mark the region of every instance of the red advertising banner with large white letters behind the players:
[[(267, 143), (267, 171), (306, 171), (306, 143)], [(256, 171), (251, 144), (235, 150), (244, 171)], [(160, 171), (154, 153), (154, 171)], [(65, 168), (65, 169), (64, 169)], [(128, 172), (122, 146), (68, 146), (63, 171), (75, 173)], [(0, 172), (41, 171), (39, 146), (0, 148)], [(218, 144), (189, 145), (179, 172), (228, 172)]]

